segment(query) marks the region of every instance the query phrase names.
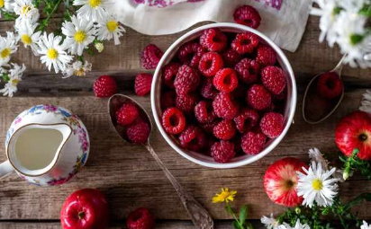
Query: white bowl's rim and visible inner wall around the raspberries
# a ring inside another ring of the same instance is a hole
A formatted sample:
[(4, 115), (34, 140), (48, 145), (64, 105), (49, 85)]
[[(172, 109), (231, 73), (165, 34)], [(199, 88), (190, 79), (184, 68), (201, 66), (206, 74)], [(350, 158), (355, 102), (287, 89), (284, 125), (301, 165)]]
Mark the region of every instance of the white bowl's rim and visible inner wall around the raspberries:
[[(160, 92), (161, 92), (161, 86), (162, 86), (162, 77), (161, 77), (161, 69), (163, 66), (167, 65), (172, 58), (176, 55), (176, 52), (180, 46), (185, 44), (188, 41), (195, 40), (196, 38), (200, 37), (202, 31), (210, 28), (219, 28), (222, 31), (225, 32), (243, 32), (243, 31), (250, 31), (258, 35), (259, 40), (261, 43), (265, 43), (271, 48), (274, 48), (276, 51), (277, 61), (280, 64), (280, 66), (285, 70), (286, 77), (287, 77), (287, 98), (286, 98), (286, 104), (285, 104), (285, 129), (282, 132), (282, 134), (279, 137), (276, 137), (275, 139), (270, 139), (267, 142), (267, 145), (265, 146), (264, 150), (257, 155), (241, 155), (233, 158), (230, 163), (216, 163), (213, 161), (213, 158), (204, 154), (195, 153), (189, 150), (186, 150), (182, 148), (180, 145), (178, 145), (176, 138), (167, 134), (165, 132), (164, 128), (162, 128), (161, 125), (161, 115), (163, 110), (161, 110), (160, 106)], [(152, 107), (153, 116), (156, 121), (156, 125), (159, 129), (159, 132), (161, 135), (165, 138), (167, 143), (176, 150), (177, 153), (184, 156), (186, 159), (198, 163), (207, 167), (213, 167), (213, 168), (220, 168), (220, 169), (226, 169), (226, 168), (235, 168), (239, 167), (245, 164), (254, 163), (258, 161), (260, 158), (264, 157), (265, 155), (269, 154), (275, 147), (278, 145), (281, 140), (285, 137), (285, 134), (287, 133), (288, 129), (291, 126), (291, 123), (293, 122), (294, 118), (294, 112), (296, 107), (296, 83), (294, 78), (294, 72), (293, 69), (287, 60), (287, 57), (285, 57), (284, 52), (281, 50), (281, 48), (278, 48), (276, 44), (267, 38), (266, 35), (262, 34), (259, 31), (256, 31), (254, 29), (251, 29), (247, 26), (243, 26), (240, 24), (235, 23), (213, 23), (201, 26), (199, 28), (196, 28), (193, 31), (188, 31), (180, 37), (176, 42), (174, 42), (170, 48), (167, 49), (164, 56), (161, 58), (161, 60), (158, 63), (158, 67), (156, 68), (155, 75), (153, 76), (153, 82), (152, 82), (152, 88), (151, 88), (151, 94), (150, 94), (150, 102)]]

